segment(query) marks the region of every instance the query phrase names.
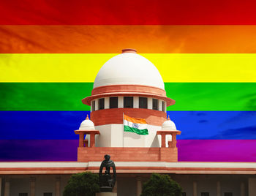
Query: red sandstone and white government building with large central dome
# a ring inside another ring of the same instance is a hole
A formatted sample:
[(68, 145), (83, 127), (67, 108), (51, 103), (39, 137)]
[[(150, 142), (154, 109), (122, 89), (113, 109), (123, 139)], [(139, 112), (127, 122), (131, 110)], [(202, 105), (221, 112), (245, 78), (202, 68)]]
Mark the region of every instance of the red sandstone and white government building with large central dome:
[[(176, 101), (166, 96), (151, 61), (122, 50), (99, 69), (91, 96), (82, 99), (91, 114), (70, 130), (79, 135), (77, 162), (0, 162), (1, 196), (60, 196), (73, 173), (99, 173), (105, 154), (116, 165), (118, 196), (140, 195), (151, 173), (170, 175), (183, 196), (255, 196), (255, 162), (178, 161), (182, 130), (166, 113)], [(124, 115), (145, 119), (148, 135), (124, 132)]]

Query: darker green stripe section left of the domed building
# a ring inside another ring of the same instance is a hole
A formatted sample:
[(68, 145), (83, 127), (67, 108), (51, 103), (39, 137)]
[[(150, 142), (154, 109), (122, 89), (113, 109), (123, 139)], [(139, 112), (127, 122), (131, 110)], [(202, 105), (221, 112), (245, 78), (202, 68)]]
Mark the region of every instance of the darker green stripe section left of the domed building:
[(0, 110), (90, 110), (93, 83), (0, 83)]

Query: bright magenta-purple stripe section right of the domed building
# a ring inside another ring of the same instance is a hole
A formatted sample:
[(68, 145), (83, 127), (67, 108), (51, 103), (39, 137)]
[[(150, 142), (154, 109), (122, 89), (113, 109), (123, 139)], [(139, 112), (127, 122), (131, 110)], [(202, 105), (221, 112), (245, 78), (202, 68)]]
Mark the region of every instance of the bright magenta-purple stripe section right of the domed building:
[(256, 140), (178, 140), (178, 161), (256, 162)]

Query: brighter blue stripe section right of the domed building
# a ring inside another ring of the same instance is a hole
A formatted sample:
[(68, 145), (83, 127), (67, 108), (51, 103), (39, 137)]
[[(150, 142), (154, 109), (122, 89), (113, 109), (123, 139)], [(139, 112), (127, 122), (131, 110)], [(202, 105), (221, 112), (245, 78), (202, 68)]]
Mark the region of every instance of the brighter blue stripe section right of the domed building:
[(256, 111), (167, 112), (181, 135), (189, 140), (255, 140)]

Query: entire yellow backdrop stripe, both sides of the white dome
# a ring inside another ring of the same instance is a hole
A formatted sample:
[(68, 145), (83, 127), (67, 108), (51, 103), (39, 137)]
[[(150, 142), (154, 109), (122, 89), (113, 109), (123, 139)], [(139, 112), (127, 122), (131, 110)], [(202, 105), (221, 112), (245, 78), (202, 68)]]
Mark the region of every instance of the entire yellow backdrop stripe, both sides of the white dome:
[[(0, 54), (0, 82), (94, 82), (116, 54)], [(256, 54), (147, 53), (164, 82), (256, 82)]]

